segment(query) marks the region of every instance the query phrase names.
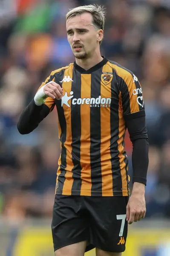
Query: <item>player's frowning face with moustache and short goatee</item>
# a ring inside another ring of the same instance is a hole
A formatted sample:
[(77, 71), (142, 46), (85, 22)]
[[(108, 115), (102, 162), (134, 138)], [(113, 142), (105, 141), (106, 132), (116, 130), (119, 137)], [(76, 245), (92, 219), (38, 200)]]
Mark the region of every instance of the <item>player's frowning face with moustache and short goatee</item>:
[(92, 15), (85, 12), (66, 22), (67, 38), (75, 58), (85, 59), (92, 55), (103, 37), (103, 30), (97, 30), (92, 23)]

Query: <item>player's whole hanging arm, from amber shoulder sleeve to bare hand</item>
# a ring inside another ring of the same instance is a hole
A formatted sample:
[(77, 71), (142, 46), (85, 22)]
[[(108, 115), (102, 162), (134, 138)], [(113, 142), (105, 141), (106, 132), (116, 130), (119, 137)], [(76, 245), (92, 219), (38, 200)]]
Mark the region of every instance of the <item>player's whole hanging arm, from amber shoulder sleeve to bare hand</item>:
[(124, 69), (118, 73), (122, 113), (133, 143), (133, 191), (127, 204), (127, 221), (139, 221), (146, 213), (145, 185), (148, 168), (148, 137), (145, 124), (144, 99), (138, 78)]

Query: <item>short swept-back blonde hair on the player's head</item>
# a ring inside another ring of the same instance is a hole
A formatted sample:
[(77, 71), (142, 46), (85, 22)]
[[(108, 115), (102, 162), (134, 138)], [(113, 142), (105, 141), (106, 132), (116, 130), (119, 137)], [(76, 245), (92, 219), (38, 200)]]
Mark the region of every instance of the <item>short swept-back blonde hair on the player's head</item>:
[(78, 6), (73, 9), (70, 9), (66, 14), (66, 21), (71, 17), (78, 16), (84, 12), (91, 13), (93, 17), (93, 24), (97, 29), (103, 29), (104, 31), (104, 22), (105, 22), (105, 8), (103, 6), (89, 4), (86, 6)]

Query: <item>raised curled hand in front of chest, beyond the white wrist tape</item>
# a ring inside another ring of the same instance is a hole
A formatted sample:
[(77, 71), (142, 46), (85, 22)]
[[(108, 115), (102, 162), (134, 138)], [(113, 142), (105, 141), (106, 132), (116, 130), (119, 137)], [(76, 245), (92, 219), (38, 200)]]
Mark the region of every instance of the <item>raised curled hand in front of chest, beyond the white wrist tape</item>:
[(43, 87), (43, 92), (52, 99), (61, 99), (63, 96), (63, 88), (61, 88), (60, 84), (52, 81)]

